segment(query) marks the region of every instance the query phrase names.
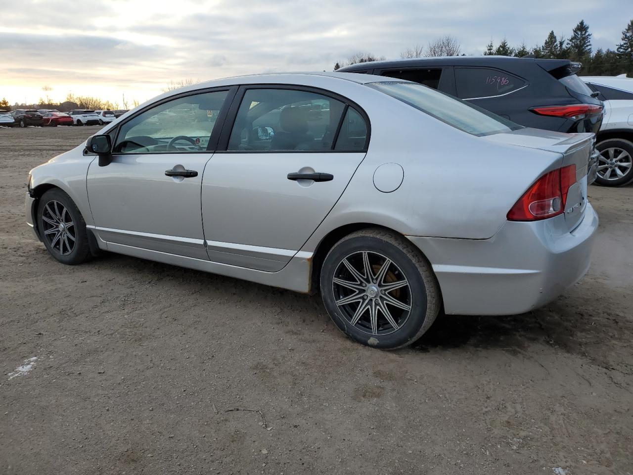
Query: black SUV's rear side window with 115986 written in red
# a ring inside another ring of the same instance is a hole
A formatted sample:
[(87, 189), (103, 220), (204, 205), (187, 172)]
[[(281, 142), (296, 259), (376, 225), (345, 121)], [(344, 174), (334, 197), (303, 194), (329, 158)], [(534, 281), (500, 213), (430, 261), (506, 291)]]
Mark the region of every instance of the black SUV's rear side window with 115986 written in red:
[(525, 81), (492, 68), (455, 68), (457, 95), (461, 99), (494, 98), (525, 87)]

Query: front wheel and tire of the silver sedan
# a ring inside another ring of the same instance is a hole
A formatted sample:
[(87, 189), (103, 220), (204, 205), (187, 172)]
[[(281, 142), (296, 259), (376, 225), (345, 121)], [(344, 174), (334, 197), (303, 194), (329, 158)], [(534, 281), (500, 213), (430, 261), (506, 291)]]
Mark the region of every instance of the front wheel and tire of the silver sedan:
[(44, 246), (59, 262), (75, 265), (90, 257), (84, 217), (61, 189), (42, 194), (37, 205), (37, 229)]

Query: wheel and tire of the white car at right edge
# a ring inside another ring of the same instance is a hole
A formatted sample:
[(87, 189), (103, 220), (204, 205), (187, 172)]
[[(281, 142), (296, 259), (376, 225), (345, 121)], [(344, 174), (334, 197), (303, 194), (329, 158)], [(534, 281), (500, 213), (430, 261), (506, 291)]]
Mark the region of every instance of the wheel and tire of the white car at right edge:
[[(633, 181), (632, 142), (625, 139), (606, 139), (596, 144), (596, 149), (600, 153), (596, 183), (603, 186), (623, 186)], [(623, 176), (613, 178), (618, 172)]]

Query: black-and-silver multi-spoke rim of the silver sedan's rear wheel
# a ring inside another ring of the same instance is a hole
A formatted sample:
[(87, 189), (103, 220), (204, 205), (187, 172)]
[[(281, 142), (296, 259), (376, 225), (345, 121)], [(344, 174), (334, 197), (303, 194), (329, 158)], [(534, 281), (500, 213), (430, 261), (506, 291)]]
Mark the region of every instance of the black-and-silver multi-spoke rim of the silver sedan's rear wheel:
[(351, 326), (372, 335), (393, 333), (411, 313), (411, 287), (402, 270), (373, 251), (347, 255), (332, 279), (335, 303)]

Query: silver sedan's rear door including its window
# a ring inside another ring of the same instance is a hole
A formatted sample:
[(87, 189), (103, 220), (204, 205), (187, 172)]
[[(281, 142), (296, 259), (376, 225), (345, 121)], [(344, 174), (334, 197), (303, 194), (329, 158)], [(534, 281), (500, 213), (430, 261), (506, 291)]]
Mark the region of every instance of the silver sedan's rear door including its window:
[[(316, 92), (318, 91), (318, 92)], [(242, 87), (204, 171), (202, 214), (214, 262), (276, 271), (296, 255), (365, 157), (369, 124), (320, 90)]]

